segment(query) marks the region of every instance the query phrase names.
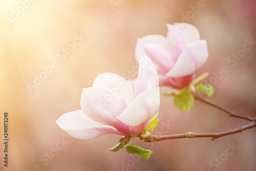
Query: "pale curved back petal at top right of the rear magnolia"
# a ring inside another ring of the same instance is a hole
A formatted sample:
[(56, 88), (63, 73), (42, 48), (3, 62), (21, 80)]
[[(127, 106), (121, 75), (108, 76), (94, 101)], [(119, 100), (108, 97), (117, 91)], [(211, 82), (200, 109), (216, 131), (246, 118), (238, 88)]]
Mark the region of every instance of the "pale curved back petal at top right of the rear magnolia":
[(174, 26), (186, 33), (186, 35), (189, 37), (190, 42), (200, 40), (200, 33), (195, 26), (188, 23), (175, 23)]

